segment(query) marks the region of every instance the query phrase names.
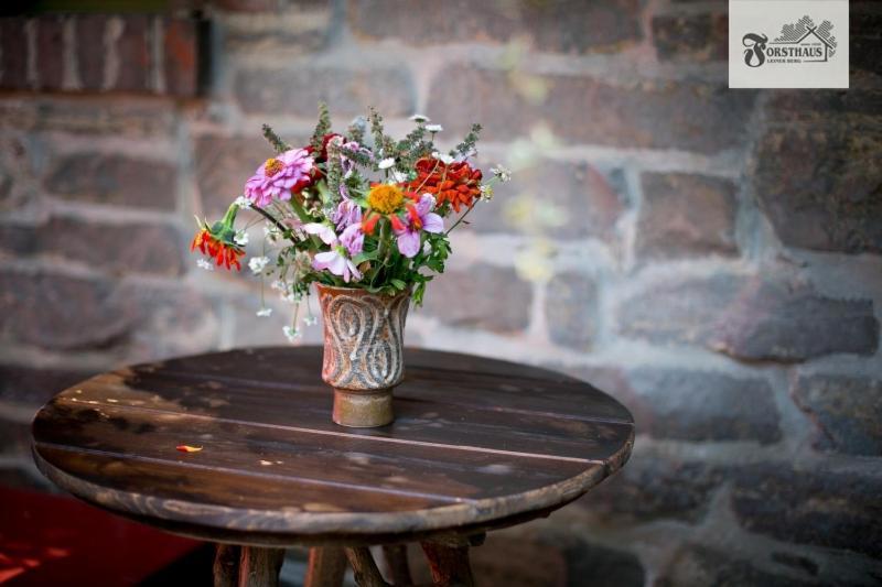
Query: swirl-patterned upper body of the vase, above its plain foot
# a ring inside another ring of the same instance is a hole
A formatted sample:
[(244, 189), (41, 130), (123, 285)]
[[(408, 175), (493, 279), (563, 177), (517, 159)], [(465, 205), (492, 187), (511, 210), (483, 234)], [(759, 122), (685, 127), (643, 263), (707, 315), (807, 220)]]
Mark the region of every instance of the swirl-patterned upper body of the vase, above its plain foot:
[(324, 316), (325, 383), (378, 390), (401, 381), (410, 292), (387, 296), (319, 285), (319, 303)]

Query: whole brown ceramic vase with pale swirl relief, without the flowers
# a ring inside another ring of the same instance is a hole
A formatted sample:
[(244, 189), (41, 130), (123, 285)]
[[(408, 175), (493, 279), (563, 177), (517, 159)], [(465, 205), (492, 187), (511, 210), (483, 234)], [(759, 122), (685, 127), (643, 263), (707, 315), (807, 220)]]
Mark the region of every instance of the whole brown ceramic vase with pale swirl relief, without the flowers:
[(410, 292), (378, 295), (318, 285), (324, 317), (322, 379), (334, 388), (334, 422), (369, 428), (389, 424), (392, 388), (405, 374), (405, 322)]

